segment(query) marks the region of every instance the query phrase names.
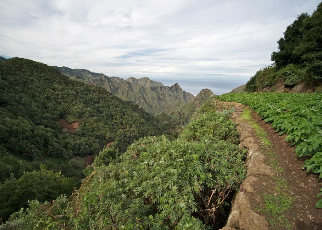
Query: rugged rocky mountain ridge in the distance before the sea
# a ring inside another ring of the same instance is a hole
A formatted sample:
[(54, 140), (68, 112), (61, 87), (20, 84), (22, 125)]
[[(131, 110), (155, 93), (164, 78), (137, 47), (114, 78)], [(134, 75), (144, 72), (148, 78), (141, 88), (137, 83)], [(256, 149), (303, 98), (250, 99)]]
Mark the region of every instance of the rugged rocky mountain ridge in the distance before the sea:
[(88, 70), (54, 67), (73, 80), (94, 83), (122, 100), (133, 101), (152, 115), (162, 111), (175, 111), (181, 105), (194, 100), (194, 95), (183, 91), (177, 83), (173, 86), (164, 86), (161, 82), (147, 77), (139, 79), (130, 77), (124, 80)]

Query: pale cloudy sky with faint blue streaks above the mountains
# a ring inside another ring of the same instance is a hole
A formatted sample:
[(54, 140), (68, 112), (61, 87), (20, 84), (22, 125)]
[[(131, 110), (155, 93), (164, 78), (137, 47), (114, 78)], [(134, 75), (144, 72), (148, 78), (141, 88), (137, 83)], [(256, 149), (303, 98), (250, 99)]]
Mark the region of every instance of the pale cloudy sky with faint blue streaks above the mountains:
[(1, 0), (0, 55), (122, 78), (247, 81), (319, 2)]

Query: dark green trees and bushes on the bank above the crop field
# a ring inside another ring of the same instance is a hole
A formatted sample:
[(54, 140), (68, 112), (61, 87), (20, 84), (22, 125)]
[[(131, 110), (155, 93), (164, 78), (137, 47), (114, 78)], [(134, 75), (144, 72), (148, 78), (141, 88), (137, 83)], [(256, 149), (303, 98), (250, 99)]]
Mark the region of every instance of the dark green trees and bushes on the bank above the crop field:
[[(304, 83), (321, 85), (322, 80), (322, 3), (312, 15), (301, 14), (289, 25), (278, 41), (279, 51), (273, 52), (273, 65), (259, 70), (247, 82), (245, 90), (260, 91), (265, 87), (275, 90), (282, 81), (286, 88)], [(311, 88), (312, 88), (311, 87)], [(317, 89), (321, 91), (321, 87)]]

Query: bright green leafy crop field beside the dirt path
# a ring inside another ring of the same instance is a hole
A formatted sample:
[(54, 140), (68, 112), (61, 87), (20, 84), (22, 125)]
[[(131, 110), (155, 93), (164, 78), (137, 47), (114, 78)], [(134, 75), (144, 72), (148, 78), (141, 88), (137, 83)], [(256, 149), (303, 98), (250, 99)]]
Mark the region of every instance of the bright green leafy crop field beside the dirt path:
[[(297, 157), (310, 156), (303, 168), (322, 178), (322, 93), (236, 93), (219, 98), (249, 105), (280, 135), (288, 134), (285, 139), (296, 146)], [(316, 207), (322, 208), (322, 199)]]

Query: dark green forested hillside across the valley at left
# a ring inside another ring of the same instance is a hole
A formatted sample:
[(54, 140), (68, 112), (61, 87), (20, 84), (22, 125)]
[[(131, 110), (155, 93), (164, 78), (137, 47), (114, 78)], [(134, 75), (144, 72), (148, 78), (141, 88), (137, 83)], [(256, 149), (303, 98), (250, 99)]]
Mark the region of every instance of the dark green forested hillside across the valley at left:
[[(82, 157), (98, 154), (107, 143), (113, 142), (122, 153), (136, 139), (164, 133), (159, 121), (137, 105), (101, 87), (72, 81), (43, 63), (22, 58), (0, 62), (0, 89), (3, 220), (25, 207), (27, 200), (43, 202), (71, 194), (86, 167)], [(79, 121), (76, 132), (62, 129), (60, 118)], [(48, 171), (39, 171), (41, 164)], [(51, 186), (44, 184), (55, 180)], [(33, 185), (38, 185), (35, 192)]]

